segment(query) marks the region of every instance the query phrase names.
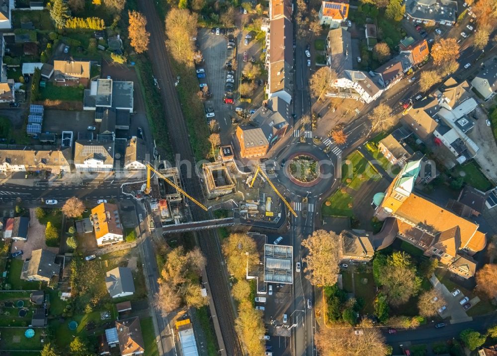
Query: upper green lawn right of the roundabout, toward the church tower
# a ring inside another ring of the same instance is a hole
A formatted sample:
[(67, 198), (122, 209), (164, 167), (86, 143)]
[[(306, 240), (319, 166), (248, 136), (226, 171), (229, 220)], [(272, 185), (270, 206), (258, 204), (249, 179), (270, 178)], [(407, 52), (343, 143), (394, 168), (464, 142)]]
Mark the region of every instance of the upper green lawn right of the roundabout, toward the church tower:
[(342, 183), (351, 189), (359, 190), (364, 181), (379, 178), (381, 176), (378, 171), (357, 150), (348, 155), (343, 161)]

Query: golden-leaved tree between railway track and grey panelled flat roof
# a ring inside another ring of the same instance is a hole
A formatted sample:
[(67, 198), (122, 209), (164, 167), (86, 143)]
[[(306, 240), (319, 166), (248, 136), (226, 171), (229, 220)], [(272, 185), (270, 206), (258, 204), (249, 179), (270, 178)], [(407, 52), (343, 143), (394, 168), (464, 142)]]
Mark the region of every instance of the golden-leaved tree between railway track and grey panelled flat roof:
[(222, 247), (228, 270), (237, 279), (246, 278), (247, 268), (250, 269), (259, 263), (257, 245), (247, 234), (231, 234), (224, 239)]

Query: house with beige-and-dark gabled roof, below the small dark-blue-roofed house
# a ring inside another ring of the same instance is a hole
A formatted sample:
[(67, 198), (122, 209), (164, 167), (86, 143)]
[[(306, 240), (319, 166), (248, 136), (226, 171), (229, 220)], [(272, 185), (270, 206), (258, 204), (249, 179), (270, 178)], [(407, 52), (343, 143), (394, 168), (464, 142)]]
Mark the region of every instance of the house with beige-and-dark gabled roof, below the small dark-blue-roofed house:
[(55, 263), (55, 253), (49, 250), (39, 249), (31, 252), (31, 258), (24, 261), (21, 279), (28, 281), (50, 282), (54, 276), (60, 273), (60, 264)]

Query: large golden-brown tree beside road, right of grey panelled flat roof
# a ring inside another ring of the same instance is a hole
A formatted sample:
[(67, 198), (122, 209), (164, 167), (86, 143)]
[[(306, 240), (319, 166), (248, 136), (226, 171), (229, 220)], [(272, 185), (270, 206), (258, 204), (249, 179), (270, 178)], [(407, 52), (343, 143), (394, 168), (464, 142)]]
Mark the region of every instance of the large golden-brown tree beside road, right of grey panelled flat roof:
[(304, 257), (306, 278), (313, 286), (332, 286), (336, 283), (338, 263), (342, 257), (342, 237), (325, 230), (317, 230), (302, 240), (309, 252)]

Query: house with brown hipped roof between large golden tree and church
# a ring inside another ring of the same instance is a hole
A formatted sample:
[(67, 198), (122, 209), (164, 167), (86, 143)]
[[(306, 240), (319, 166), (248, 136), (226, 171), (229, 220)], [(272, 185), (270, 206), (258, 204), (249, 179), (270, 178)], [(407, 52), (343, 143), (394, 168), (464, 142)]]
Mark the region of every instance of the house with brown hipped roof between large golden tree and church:
[(374, 245), (371, 233), (362, 230), (344, 230), (341, 233), (343, 243), (342, 260), (371, 261)]

